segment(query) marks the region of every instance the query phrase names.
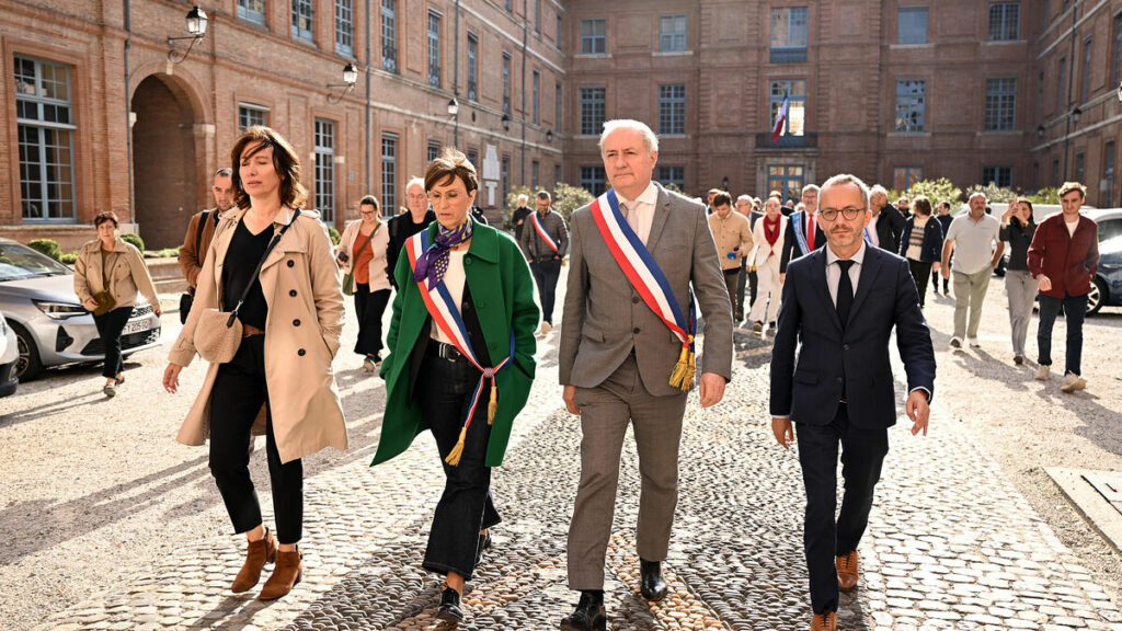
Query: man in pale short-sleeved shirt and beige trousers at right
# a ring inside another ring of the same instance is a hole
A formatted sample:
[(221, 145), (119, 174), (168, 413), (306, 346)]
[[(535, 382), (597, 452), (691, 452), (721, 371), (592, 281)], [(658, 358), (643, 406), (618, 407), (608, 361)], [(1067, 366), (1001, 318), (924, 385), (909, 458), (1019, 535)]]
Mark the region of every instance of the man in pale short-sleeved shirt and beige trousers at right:
[[(978, 348), (978, 322), (982, 321), (982, 304), (990, 287), (990, 276), (1005, 252), (1001, 241), (1001, 221), (986, 214), (985, 193), (971, 195), (971, 211), (950, 222), (947, 237), (942, 241), (942, 274), (950, 276), (955, 285), (955, 335), (951, 348), (963, 347), (963, 337), (973, 348)], [(996, 246), (994, 245), (996, 244)], [(955, 267), (950, 267), (950, 254), (955, 254)], [(969, 311), (969, 323), (966, 314)]]

